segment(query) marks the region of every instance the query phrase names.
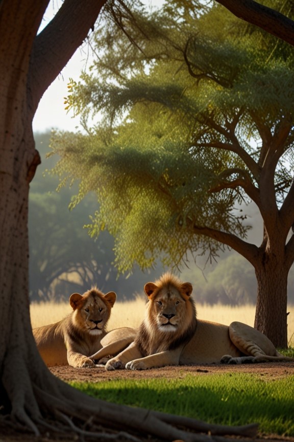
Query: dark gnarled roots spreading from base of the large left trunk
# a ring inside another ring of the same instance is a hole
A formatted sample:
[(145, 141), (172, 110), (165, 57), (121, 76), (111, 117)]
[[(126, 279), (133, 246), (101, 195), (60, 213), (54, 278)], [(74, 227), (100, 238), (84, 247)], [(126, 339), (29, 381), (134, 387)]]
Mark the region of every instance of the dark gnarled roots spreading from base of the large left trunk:
[[(220, 426), (196, 419), (171, 415), (144, 408), (134, 408), (94, 399), (56, 378), (45, 366), (27, 368), (11, 386), (6, 371), (3, 386), (11, 401), (11, 422), (16, 429), (40, 435), (73, 434), (80, 440), (125, 440), (138, 442), (152, 436), (157, 440), (185, 442), (223, 442), (224, 435), (254, 437), (256, 424)], [(22, 380), (25, 382), (22, 382)], [(3, 422), (2, 422), (3, 423)], [(0, 422), (1, 424), (1, 422)]]

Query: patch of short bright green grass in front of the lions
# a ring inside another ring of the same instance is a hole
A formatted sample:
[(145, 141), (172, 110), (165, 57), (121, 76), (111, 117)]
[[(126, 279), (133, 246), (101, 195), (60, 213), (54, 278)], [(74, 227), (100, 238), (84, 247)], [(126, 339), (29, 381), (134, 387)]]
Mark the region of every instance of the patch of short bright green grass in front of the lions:
[(237, 373), (71, 385), (117, 404), (185, 415), (214, 424), (258, 422), (262, 433), (294, 436), (294, 374), (280, 380)]

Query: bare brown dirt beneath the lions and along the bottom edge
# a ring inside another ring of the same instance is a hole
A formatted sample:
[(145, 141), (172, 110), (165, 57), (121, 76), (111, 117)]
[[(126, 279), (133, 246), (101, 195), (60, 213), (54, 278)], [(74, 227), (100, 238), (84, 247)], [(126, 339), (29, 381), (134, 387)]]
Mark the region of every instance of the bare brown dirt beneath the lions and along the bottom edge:
[[(244, 364), (244, 365), (209, 365), (209, 366), (180, 366), (180, 367), (162, 367), (143, 371), (116, 370), (106, 371), (105, 368), (72, 368), (69, 366), (52, 367), (51, 371), (58, 378), (68, 381), (89, 381), (103, 382), (113, 379), (146, 379), (146, 378), (165, 378), (181, 379), (187, 374), (193, 376), (209, 376), (211, 374), (222, 373), (252, 373), (257, 374), (263, 379), (275, 380), (288, 377), (294, 374), (294, 364), (291, 362), (275, 362), (264, 364)], [(294, 401), (294, 398), (293, 398)], [(294, 416), (293, 416), (294, 418)], [(213, 439), (211, 441), (213, 442)], [(217, 438), (215, 438), (216, 440)], [(53, 438), (53, 437), (33, 437), (26, 434), (8, 433), (0, 427), (0, 442), (73, 442), (75, 438)], [(144, 439), (146, 440), (146, 439)], [(153, 442), (152, 438), (148, 439)], [(223, 439), (224, 440), (224, 439)], [(228, 437), (228, 442), (239, 439)], [(241, 439), (242, 442), (252, 442), (253, 439)], [(294, 442), (294, 437), (283, 437), (274, 434), (259, 434), (256, 442)], [(99, 441), (97, 441), (99, 442)], [(176, 442), (176, 441), (174, 441)], [(177, 441), (184, 442), (184, 441)]]

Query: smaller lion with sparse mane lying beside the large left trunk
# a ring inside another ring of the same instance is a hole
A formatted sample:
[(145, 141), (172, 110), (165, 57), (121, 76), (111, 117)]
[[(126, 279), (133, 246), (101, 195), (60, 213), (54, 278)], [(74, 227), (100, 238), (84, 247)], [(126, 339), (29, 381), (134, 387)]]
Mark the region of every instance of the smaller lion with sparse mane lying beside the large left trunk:
[(54, 324), (34, 328), (45, 364), (94, 367), (89, 356), (102, 347), (101, 339), (106, 335), (105, 327), (115, 300), (114, 292), (104, 295), (95, 287), (83, 295), (73, 293), (69, 298), (71, 314)]

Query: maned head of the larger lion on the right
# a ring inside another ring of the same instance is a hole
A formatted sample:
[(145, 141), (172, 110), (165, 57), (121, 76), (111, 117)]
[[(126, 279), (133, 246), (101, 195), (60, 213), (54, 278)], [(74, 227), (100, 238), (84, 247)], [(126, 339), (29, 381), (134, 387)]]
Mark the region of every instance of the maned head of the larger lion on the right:
[(166, 274), (157, 283), (148, 282), (144, 291), (149, 298), (146, 321), (160, 333), (181, 335), (195, 320), (192, 285), (179, 283), (176, 277)]

